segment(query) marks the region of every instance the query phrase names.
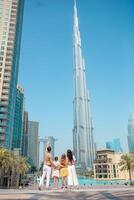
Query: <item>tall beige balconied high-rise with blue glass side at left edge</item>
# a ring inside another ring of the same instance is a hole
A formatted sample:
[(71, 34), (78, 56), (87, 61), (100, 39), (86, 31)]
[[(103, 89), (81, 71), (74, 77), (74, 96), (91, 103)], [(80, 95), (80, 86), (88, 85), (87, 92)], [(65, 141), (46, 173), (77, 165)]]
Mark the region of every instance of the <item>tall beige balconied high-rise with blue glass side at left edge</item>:
[(12, 147), (24, 0), (0, 0), (0, 146)]

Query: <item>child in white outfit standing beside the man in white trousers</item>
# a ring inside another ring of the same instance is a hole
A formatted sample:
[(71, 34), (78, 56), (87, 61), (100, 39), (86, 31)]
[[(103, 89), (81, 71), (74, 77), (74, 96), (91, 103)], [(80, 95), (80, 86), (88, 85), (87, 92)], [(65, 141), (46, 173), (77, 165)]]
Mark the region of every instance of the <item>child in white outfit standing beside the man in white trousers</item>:
[(54, 179), (54, 188), (58, 189), (60, 162), (58, 161), (57, 156), (54, 158), (53, 165), (54, 165), (54, 167), (53, 167), (53, 171), (52, 171), (52, 178)]

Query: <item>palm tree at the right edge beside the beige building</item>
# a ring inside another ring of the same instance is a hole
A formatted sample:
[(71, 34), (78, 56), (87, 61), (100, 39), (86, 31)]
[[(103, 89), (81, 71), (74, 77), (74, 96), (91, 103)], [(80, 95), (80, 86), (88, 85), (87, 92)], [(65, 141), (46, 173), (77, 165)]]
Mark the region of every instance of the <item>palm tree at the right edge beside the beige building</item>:
[(134, 170), (134, 154), (124, 154), (121, 156), (121, 160), (119, 162), (119, 166), (121, 167), (121, 171), (127, 170), (129, 173), (130, 184), (132, 183), (132, 170)]

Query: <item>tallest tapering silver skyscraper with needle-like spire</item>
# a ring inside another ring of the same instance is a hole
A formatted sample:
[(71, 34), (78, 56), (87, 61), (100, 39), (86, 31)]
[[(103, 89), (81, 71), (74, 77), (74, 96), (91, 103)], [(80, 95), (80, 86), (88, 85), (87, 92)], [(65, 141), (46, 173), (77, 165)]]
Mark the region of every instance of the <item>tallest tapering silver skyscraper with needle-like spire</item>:
[(86, 85), (85, 62), (82, 55), (76, 0), (74, 0), (73, 27), (74, 57), (74, 128), (73, 148), (77, 164), (92, 168), (95, 157), (90, 100)]

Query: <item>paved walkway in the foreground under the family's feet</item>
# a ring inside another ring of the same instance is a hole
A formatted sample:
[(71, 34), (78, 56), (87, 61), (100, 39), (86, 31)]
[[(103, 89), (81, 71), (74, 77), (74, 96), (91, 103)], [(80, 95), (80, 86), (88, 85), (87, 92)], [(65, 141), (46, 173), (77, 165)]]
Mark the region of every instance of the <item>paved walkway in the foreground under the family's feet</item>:
[(134, 200), (134, 187), (106, 186), (79, 190), (0, 190), (1, 200)]

